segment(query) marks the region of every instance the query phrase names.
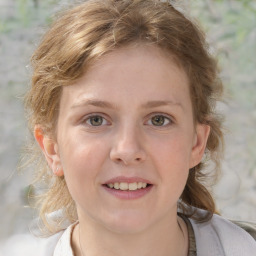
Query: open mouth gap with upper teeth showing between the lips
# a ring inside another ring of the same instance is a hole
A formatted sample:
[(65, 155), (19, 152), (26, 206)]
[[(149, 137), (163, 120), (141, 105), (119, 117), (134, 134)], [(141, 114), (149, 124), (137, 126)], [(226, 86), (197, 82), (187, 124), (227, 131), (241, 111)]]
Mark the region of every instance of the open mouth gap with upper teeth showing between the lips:
[(146, 182), (114, 182), (114, 183), (107, 183), (103, 186), (113, 189), (113, 190), (122, 190), (122, 191), (137, 191), (148, 188), (153, 186), (152, 184)]

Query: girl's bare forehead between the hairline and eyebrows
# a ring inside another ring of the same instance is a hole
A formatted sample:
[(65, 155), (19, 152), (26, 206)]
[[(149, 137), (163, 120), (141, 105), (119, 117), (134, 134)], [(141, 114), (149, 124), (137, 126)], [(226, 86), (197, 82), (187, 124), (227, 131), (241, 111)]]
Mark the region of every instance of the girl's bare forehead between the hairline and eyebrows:
[(63, 97), (79, 102), (88, 95), (107, 96), (110, 101), (133, 95), (133, 100), (175, 101), (179, 91), (188, 92), (188, 84), (185, 71), (171, 54), (152, 45), (130, 45), (102, 56), (76, 83), (64, 88)]

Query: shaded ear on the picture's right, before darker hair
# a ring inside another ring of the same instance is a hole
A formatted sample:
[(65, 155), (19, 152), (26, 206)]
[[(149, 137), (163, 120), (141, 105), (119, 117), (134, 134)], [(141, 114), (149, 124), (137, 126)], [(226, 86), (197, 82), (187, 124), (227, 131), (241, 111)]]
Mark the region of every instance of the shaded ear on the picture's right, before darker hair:
[(191, 152), (190, 168), (198, 165), (204, 155), (207, 140), (210, 134), (210, 126), (205, 124), (196, 125), (196, 134)]

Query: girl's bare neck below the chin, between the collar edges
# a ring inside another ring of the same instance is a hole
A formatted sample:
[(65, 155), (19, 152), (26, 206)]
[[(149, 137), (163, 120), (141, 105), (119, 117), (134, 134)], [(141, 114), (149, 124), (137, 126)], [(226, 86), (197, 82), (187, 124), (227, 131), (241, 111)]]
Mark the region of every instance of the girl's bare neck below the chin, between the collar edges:
[(170, 218), (168, 224), (161, 220), (150, 229), (133, 234), (112, 232), (80, 220), (73, 233), (72, 247), (75, 256), (186, 256), (187, 236), (186, 224), (177, 216)]

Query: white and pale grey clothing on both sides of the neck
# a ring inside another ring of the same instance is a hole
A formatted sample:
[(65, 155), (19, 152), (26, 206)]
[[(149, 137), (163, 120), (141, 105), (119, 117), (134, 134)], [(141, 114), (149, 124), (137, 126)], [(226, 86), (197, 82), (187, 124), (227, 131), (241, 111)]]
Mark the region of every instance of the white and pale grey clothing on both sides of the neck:
[[(198, 212), (205, 214), (203, 210)], [(188, 256), (256, 255), (256, 223), (229, 221), (215, 214), (209, 221), (198, 223), (183, 214), (179, 216), (185, 221), (188, 229)], [(26, 236), (25, 241), (19, 236), (15, 241), (10, 241), (10, 244), (13, 248), (20, 249), (15, 250), (16, 253), (10, 247), (3, 251), (0, 249), (0, 256), (74, 256), (71, 238), (76, 224), (77, 222), (48, 239)], [(27, 248), (26, 251), (24, 248)]]

